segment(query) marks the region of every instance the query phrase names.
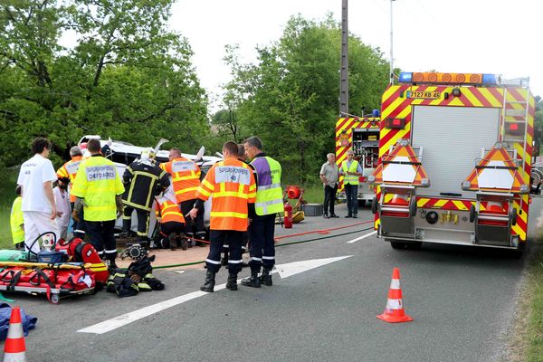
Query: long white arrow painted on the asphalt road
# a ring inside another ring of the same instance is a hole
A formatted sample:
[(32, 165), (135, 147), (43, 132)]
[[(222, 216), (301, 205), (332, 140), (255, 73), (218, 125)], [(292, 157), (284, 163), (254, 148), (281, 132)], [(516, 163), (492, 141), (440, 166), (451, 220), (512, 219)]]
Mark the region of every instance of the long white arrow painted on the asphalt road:
[[(319, 266), (329, 264), (330, 262), (338, 262), (342, 259), (350, 258), (351, 256), (353, 255), (339, 256), (336, 258), (327, 258), (327, 259), (314, 259), (314, 260), (303, 261), (303, 262), (290, 262), (287, 264), (275, 265), (276, 270), (272, 272), (279, 273), (281, 278), (288, 278), (300, 272), (309, 271), (314, 268), (319, 268)], [(241, 281), (241, 279), (238, 281)], [(214, 291), (221, 291), (224, 288), (226, 288), (226, 283), (215, 285)], [(178, 304), (185, 303), (188, 300), (195, 300), (196, 298), (203, 297), (209, 294), (210, 293), (206, 293), (205, 291), (193, 291), (188, 294), (173, 298), (171, 300), (164, 300), (157, 304), (152, 304), (148, 307), (131, 311), (119, 317), (104, 320), (103, 322), (100, 322), (93, 326), (80, 329), (78, 330), (78, 332), (104, 334), (104, 333), (110, 332), (111, 330), (126, 326), (127, 324), (132, 323), (138, 319), (146, 318), (152, 314), (158, 313), (159, 311), (167, 310), (168, 308), (175, 307)]]

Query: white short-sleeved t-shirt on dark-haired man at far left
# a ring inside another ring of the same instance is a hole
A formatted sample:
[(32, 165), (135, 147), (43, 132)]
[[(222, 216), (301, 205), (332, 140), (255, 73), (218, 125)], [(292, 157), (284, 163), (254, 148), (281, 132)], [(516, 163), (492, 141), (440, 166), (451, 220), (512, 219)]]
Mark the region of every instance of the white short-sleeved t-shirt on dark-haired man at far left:
[(57, 176), (51, 160), (40, 154), (21, 165), (17, 185), (23, 187), (23, 211), (40, 211), (51, 213), (51, 203), (45, 195), (43, 183), (56, 181)]

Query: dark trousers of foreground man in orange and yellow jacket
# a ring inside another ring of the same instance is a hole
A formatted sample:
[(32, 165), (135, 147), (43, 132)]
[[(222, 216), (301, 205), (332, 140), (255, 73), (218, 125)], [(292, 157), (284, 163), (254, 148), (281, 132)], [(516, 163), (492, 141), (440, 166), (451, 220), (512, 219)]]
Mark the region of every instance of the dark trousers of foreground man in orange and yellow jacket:
[(242, 270), (242, 243), (243, 233), (234, 230), (211, 230), (209, 233), (211, 243), (209, 244), (209, 253), (205, 260), (207, 269), (219, 271), (221, 269), (221, 252), (226, 243), (230, 247), (230, 257), (228, 258), (228, 271), (238, 273)]

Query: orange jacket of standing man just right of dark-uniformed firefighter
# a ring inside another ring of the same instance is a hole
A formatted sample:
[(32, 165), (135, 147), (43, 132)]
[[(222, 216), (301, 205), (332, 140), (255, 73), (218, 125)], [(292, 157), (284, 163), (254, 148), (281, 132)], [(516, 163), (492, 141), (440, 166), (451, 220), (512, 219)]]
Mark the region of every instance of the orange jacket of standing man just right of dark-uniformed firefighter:
[(200, 186), (200, 167), (195, 161), (176, 157), (173, 161), (160, 164), (160, 168), (172, 176), (177, 203), (196, 198), (196, 190)]

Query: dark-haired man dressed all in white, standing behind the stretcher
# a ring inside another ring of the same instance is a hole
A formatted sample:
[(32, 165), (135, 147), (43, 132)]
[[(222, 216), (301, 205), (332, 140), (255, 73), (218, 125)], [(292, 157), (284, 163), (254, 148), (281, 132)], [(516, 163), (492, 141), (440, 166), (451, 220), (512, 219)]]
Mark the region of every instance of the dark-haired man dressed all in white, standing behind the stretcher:
[(22, 188), (24, 216), (24, 247), (39, 252), (40, 245), (34, 240), (42, 233), (54, 233), (59, 238), (56, 224), (57, 209), (52, 195), (52, 182), (57, 179), (51, 160), (51, 142), (35, 138), (32, 143), (34, 156), (21, 165), (17, 185)]

